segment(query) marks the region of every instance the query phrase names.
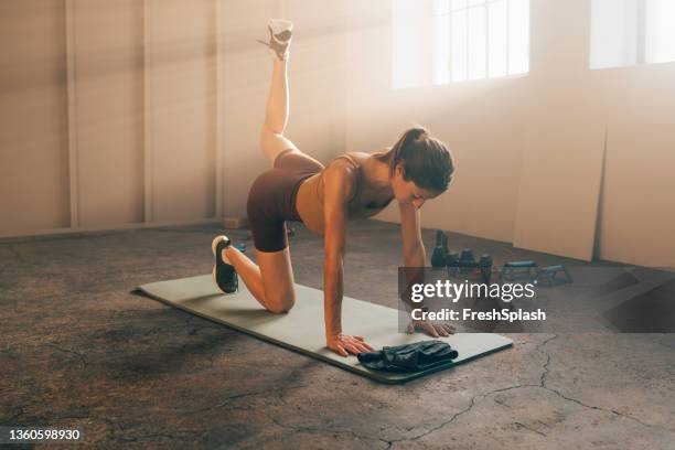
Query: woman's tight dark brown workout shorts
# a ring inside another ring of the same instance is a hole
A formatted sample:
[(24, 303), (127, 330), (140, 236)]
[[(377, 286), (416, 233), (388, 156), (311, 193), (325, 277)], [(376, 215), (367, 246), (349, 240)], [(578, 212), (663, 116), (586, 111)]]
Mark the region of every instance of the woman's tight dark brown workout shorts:
[(300, 182), (323, 170), (323, 164), (296, 149), (279, 153), (274, 168), (254, 181), (248, 192), (248, 226), (260, 251), (288, 247), (286, 221), (301, 222), (296, 197)]

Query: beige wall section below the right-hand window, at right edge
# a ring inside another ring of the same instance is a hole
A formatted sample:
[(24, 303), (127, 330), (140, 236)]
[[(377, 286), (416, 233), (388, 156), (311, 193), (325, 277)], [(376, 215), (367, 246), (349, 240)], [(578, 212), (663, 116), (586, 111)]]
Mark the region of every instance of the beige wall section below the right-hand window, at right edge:
[(675, 64), (597, 77), (615, 93), (607, 100), (599, 256), (675, 268)]

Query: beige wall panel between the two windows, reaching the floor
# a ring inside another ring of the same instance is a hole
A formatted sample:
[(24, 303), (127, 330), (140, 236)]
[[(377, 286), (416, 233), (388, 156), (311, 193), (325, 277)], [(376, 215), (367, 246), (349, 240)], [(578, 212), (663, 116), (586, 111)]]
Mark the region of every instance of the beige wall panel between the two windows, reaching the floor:
[(590, 260), (606, 122), (588, 69), (588, 2), (532, 2), (532, 90), (514, 246)]

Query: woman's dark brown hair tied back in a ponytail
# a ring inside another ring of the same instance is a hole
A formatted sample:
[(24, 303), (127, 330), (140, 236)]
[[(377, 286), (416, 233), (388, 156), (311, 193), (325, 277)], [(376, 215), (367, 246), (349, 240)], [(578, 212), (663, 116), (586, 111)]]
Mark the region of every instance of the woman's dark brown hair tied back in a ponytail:
[(404, 180), (435, 192), (444, 192), (454, 172), (450, 150), (443, 142), (431, 138), (424, 127), (410, 128), (404, 132), (384, 154), (388, 157), (389, 176), (394, 176), (396, 167), (401, 164)]

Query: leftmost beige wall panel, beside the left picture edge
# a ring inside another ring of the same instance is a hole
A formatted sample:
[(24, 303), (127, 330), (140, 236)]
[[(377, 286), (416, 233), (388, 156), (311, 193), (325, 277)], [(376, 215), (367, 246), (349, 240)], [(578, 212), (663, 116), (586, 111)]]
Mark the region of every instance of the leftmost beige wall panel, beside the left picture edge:
[(0, 234), (68, 226), (64, 2), (0, 2)]

